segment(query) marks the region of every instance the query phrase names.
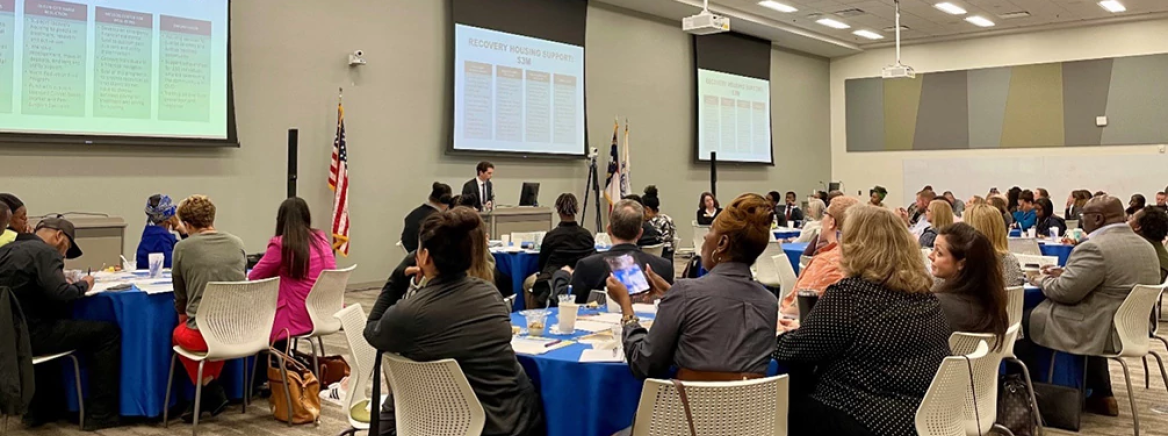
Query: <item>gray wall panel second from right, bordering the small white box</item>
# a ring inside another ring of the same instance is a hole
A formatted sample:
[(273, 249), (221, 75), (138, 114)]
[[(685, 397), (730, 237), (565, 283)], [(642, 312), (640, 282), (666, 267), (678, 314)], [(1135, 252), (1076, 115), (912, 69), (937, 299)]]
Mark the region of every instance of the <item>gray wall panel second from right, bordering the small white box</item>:
[(1063, 125), (1066, 145), (1099, 145), (1103, 127), (1096, 117), (1107, 113), (1112, 60), (1063, 63)]

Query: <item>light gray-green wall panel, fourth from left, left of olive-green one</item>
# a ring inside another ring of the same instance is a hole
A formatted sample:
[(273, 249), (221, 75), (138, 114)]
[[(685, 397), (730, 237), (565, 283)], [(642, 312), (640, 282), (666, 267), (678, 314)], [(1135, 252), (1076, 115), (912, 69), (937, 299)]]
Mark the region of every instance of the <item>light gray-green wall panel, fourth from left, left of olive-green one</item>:
[(1002, 144), (1010, 69), (969, 70), (966, 84), (969, 108), (969, 148), (997, 148)]

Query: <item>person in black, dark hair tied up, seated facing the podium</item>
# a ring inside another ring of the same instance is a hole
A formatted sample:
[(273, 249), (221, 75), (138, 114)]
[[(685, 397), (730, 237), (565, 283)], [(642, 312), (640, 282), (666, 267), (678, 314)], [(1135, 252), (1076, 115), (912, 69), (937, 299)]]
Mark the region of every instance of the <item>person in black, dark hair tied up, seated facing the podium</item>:
[(564, 267), (575, 267), (579, 259), (596, 252), (596, 238), (592, 231), (576, 222), (579, 202), (576, 195), (564, 193), (556, 199), (556, 213), (559, 214), (559, 226), (548, 231), (540, 245), (540, 275), (531, 288), (531, 302), (527, 307), (540, 307), (549, 300), (551, 288), (548, 281), (551, 275)]

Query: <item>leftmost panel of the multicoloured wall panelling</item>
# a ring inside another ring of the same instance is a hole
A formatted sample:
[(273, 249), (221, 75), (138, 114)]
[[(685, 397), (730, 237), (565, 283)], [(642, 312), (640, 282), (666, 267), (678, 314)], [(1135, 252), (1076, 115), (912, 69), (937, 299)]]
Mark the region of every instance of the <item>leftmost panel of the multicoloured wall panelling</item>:
[(884, 150), (884, 81), (855, 78), (846, 81), (848, 151)]

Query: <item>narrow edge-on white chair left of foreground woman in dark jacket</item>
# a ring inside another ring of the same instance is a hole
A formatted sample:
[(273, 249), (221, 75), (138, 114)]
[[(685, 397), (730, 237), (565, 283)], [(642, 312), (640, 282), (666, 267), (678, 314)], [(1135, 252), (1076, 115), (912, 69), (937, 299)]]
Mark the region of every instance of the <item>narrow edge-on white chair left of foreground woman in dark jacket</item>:
[[(356, 435), (359, 430), (368, 430), (369, 422), (381, 408), (366, 394), (366, 385), (373, 380), (373, 364), (377, 360), (377, 350), (364, 339), (364, 326), (368, 317), (360, 304), (345, 307), (333, 316), (345, 328), (345, 339), (349, 342), (349, 389), (345, 393), (345, 416), (350, 428), (341, 435)], [(373, 403), (373, 406), (370, 406)], [(369, 410), (366, 410), (366, 409)]]

